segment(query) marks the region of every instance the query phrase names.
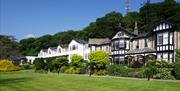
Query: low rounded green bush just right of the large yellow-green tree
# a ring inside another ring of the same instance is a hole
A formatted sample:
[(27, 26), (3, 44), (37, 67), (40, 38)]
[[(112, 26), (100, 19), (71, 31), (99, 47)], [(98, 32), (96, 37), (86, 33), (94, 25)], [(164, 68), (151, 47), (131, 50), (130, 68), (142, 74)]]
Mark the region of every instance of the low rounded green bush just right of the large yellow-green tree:
[(128, 68), (121, 64), (114, 64), (107, 68), (107, 73), (110, 76), (128, 76)]

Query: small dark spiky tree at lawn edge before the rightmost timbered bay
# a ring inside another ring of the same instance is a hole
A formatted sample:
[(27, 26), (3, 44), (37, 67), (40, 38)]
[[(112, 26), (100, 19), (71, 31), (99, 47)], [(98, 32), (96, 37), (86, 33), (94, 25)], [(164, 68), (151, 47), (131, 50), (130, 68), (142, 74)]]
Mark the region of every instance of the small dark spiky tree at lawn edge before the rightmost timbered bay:
[(158, 69), (157, 69), (156, 61), (149, 61), (147, 64), (145, 64), (144, 74), (145, 76), (147, 76), (148, 81), (157, 73), (158, 73)]

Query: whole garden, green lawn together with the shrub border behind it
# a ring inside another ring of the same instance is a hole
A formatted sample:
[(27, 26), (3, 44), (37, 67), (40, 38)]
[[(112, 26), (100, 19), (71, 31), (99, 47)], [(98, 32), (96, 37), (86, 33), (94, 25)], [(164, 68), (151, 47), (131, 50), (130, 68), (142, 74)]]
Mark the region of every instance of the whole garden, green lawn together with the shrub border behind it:
[[(176, 56), (177, 60), (179, 55)], [(0, 61), (2, 91), (179, 91), (180, 61), (149, 60), (141, 68), (109, 65), (104, 51), (93, 51), (89, 62), (80, 55), (38, 58), (34, 64)], [(72, 75), (78, 74), (78, 75)], [(152, 79), (151, 81), (147, 81)], [(160, 80), (155, 80), (160, 79)]]

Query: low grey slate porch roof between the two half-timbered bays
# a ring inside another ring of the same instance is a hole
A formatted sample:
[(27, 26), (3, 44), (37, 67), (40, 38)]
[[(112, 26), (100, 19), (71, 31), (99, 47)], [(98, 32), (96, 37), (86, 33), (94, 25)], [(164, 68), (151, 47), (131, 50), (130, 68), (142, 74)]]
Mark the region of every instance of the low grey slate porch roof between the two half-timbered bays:
[(148, 53), (148, 52), (154, 52), (154, 51), (156, 51), (156, 50), (148, 48), (148, 47), (145, 47), (143, 49), (130, 50), (130, 51), (127, 52), (127, 54)]

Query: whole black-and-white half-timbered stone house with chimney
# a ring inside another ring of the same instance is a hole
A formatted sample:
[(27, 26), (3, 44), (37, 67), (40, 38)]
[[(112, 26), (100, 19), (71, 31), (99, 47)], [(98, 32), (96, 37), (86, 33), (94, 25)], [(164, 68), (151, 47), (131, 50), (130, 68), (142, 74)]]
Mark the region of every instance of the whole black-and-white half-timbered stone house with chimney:
[(149, 60), (148, 57), (169, 63), (175, 61), (175, 49), (180, 48), (180, 30), (176, 25), (162, 21), (145, 34), (138, 34), (137, 28), (135, 29), (134, 33), (119, 29), (112, 38), (112, 63), (144, 64)]

